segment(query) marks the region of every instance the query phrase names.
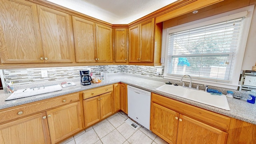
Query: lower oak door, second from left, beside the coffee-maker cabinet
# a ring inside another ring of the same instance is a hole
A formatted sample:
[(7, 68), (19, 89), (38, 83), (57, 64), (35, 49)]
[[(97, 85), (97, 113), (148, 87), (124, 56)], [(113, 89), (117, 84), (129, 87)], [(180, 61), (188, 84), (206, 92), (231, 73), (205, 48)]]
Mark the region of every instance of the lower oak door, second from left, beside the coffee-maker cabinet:
[(47, 116), (53, 144), (82, 130), (80, 102), (49, 110)]

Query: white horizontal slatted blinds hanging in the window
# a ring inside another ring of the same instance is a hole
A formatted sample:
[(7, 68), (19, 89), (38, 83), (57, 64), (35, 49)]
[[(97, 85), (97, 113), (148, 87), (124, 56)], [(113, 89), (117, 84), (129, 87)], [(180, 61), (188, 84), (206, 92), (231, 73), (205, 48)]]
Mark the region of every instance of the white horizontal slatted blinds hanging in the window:
[(170, 33), (167, 75), (229, 83), (244, 18)]

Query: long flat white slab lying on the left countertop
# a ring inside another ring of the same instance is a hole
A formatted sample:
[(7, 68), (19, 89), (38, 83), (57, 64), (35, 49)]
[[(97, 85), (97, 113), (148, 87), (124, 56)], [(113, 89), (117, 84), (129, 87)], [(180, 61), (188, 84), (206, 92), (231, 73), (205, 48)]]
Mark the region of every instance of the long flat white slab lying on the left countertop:
[(59, 84), (52, 85), (52, 86), (44, 86), (40, 87), (42, 89), (38, 88), (26, 88), (26, 89), (21, 89), (21, 90), (16, 90), (12, 95), (10, 95), (6, 100), (13, 100), (17, 98), (25, 98), (28, 96), (35, 96), (38, 94), (45, 94), (49, 92), (55, 92), (58, 90), (62, 90), (62, 87)]

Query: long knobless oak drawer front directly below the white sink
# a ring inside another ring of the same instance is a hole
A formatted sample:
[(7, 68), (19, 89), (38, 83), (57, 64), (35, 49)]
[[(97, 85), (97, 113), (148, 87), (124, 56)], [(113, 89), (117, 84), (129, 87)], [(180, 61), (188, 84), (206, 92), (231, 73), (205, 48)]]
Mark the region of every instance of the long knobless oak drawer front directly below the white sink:
[(152, 93), (151, 101), (179, 112), (180, 114), (191, 116), (192, 118), (201, 122), (222, 128), (223, 130), (228, 130), (230, 125), (231, 118), (227, 116), (216, 114), (214, 112), (210, 112), (196, 106), (191, 106), (190, 104), (185, 104), (158, 94)]

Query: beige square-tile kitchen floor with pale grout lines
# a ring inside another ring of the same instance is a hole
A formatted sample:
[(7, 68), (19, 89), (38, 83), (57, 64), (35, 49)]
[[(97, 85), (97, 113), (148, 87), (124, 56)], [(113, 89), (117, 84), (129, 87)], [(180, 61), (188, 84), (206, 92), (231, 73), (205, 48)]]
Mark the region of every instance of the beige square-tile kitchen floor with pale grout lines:
[(127, 118), (118, 112), (61, 144), (168, 144), (146, 128), (134, 130), (125, 122)]

